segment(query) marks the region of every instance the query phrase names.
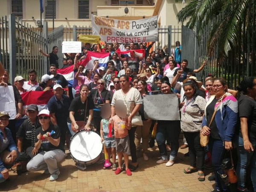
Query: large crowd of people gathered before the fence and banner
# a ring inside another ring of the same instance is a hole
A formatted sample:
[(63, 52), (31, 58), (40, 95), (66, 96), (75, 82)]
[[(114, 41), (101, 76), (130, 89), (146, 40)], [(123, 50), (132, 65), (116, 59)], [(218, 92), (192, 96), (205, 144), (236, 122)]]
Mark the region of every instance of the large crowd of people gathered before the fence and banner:
[[(145, 42), (139, 45), (131, 42), (126, 46), (131, 51), (126, 57), (115, 52), (118, 47), (118, 44), (104, 44), (102, 48), (93, 45), (93, 52), (109, 52), (110, 61), (103, 67), (95, 60), (94, 67), (86, 70), (81, 64), (87, 55), (86, 47), (82, 54), (66, 54), (63, 64), (64, 67), (73, 65), (72, 85), (57, 73), (58, 47), (53, 47), (50, 54), (39, 49), (50, 58), (49, 73), (41, 77), (41, 82), (36, 81), (37, 73), (33, 69), (28, 71), (28, 81), (22, 76), (15, 77), (12, 87), (17, 116), (9, 120), (8, 113), (0, 112), (0, 182), (8, 179), (10, 166), (22, 152), (31, 158), (27, 171), (44, 171), (50, 174), (50, 181), (56, 180), (60, 174), (58, 163), (67, 156), (64, 145), (66, 143), (69, 148), (70, 137), (80, 129), (96, 131), (104, 142), (108, 157), (112, 155), (114, 173), (117, 175), (124, 170), (130, 176), (138, 168), (139, 151), (143, 153), (143, 160), (149, 159), (148, 142), (156, 125), (155, 139), (160, 152), (156, 163), (166, 163), (168, 167), (175, 163), (182, 131), (190, 158), (184, 174), (198, 172), (198, 180), (204, 181), (207, 159), (214, 169), (215, 191), (226, 192), (229, 189), (221, 179), (224, 174), (221, 164), (227, 151), (236, 150), (237, 190), (248, 191), (250, 167), (250, 178), (256, 191), (256, 79), (248, 77), (241, 81), (238, 90), (243, 94), (237, 100), (237, 91), (228, 89), (222, 78), (209, 75), (204, 85), (198, 81), (195, 73), (203, 70), (207, 61), (198, 69), (188, 68), (188, 61), (181, 61), (182, 47), (178, 41), (170, 55), (163, 49), (150, 52), (152, 44), (147, 47)], [(136, 49), (145, 49), (145, 57), (136, 55)], [(0, 77), (0, 86), (7, 85), (11, 84), (5, 70)], [(53, 91), (48, 109), (39, 111), (37, 105), (29, 105), (23, 111), (21, 95), (27, 91)], [(143, 98), (158, 94), (177, 95), (181, 120), (156, 121), (144, 116)], [(104, 105), (111, 105), (109, 116), (102, 115)], [(137, 116), (141, 116), (142, 125), (133, 123)], [(79, 121), (84, 123), (80, 125)], [(110, 124), (113, 126), (112, 138), (108, 138)], [(50, 134), (52, 132), (54, 134)], [(207, 147), (201, 146), (200, 134), (209, 136)]]

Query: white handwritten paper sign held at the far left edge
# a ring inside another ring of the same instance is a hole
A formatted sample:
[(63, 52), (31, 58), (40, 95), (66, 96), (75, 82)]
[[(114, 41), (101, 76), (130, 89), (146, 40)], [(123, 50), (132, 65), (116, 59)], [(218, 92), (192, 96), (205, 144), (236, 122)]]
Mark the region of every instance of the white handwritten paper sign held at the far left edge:
[(10, 119), (15, 119), (17, 115), (12, 86), (0, 86), (0, 111), (9, 113)]

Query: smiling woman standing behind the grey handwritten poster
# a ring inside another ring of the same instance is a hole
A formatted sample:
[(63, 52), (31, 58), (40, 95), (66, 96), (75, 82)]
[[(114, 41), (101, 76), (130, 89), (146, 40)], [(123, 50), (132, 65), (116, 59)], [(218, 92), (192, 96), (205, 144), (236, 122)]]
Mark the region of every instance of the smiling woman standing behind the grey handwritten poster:
[[(163, 94), (174, 94), (171, 90), (169, 81), (163, 81), (161, 90)], [(179, 135), (180, 135), (180, 120), (159, 120), (157, 123), (157, 145), (160, 152), (161, 159), (157, 161), (158, 164), (166, 163), (166, 166), (172, 166), (175, 163), (179, 149)], [(166, 140), (171, 142), (171, 153), (168, 161)]]

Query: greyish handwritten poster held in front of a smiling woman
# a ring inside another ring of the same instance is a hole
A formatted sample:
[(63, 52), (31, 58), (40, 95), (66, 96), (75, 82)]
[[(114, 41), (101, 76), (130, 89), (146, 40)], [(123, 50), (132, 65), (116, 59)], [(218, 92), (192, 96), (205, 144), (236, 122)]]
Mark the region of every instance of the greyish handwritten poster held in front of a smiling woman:
[(143, 98), (143, 105), (146, 119), (180, 120), (176, 94), (146, 95)]

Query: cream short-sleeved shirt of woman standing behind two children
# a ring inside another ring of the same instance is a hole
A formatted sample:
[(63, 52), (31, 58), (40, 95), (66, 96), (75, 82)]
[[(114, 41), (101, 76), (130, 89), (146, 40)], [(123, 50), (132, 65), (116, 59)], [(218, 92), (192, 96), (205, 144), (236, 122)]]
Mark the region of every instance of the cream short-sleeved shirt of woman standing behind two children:
[[(117, 100), (124, 100), (125, 104), (127, 105), (128, 110), (126, 111), (126, 115), (129, 116), (130, 113), (134, 110), (135, 105), (142, 104), (142, 99), (140, 96), (140, 92), (131, 87), (128, 93), (124, 94), (122, 92), (122, 89), (117, 90), (114, 95), (111, 102), (111, 105), (115, 105), (115, 102)], [(139, 113), (135, 114), (138, 115)]]

